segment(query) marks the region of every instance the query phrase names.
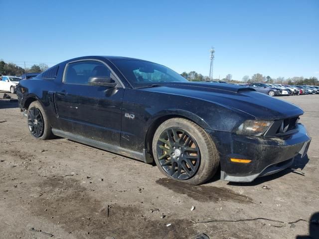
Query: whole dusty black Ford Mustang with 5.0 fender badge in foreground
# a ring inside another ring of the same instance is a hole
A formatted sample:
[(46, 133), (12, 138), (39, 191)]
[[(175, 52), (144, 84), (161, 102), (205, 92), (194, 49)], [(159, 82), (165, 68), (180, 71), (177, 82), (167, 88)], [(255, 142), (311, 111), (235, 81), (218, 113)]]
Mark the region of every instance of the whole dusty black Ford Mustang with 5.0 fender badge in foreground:
[(190, 184), (251, 182), (304, 156), (302, 109), (220, 83), (189, 82), (149, 61), (88, 56), (17, 86), (31, 135), (58, 135), (147, 163)]

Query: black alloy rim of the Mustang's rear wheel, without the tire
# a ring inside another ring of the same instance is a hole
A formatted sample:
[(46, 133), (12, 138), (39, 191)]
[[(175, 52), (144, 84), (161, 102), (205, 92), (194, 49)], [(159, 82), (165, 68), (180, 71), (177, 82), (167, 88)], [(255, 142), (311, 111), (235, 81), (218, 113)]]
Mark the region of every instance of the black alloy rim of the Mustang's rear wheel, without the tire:
[(32, 107), (28, 110), (28, 125), (31, 134), (38, 138), (43, 134), (44, 123), (43, 116), (39, 109)]

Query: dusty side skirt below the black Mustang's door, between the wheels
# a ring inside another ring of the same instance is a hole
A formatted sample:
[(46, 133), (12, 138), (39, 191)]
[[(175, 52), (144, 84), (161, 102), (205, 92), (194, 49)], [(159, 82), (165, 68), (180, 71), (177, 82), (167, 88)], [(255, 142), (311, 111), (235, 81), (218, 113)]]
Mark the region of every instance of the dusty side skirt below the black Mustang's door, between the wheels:
[(68, 138), (68, 139), (73, 140), (73, 141), (88, 144), (88, 145), (96, 147), (96, 148), (101, 148), (101, 149), (104, 149), (106, 151), (110, 151), (113, 153), (117, 153), (117, 154), (121, 154), (121, 155), (130, 157), (130, 158), (141, 160), (141, 161), (146, 162), (146, 163), (150, 163), (146, 157), (145, 149), (143, 150), (143, 153), (140, 153), (140, 152), (126, 149), (126, 148), (122, 148), (120, 146), (116, 146), (116, 145), (112, 145), (112, 144), (108, 144), (108, 143), (103, 143), (100, 141), (96, 141), (96, 140), (93, 140), (90, 138), (86, 138), (86, 137), (83, 137), (83, 136), (80, 136), (77, 134), (65, 132), (65, 131), (62, 131), (59, 129), (55, 129), (55, 128), (52, 128), (52, 133), (56, 136)]

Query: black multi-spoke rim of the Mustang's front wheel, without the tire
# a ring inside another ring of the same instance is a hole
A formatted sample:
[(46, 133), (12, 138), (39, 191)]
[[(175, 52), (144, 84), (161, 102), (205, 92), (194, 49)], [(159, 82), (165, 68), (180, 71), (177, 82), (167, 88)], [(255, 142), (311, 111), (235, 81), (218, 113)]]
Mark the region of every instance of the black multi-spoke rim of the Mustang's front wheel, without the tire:
[(169, 127), (160, 134), (157, 156), (162, 169), (179, 180), (191, 178), (196, 174), (200, 164), (200, 152), (196, 141), (179, 127)]

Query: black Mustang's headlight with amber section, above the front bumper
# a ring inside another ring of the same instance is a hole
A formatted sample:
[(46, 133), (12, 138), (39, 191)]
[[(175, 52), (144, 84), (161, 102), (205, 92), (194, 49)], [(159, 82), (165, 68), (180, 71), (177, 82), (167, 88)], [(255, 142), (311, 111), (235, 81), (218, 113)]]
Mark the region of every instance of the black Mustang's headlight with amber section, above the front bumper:
[(239, 125), (236, 134), (262, 135), (272, 125), (272, 120), (246, 120)]

